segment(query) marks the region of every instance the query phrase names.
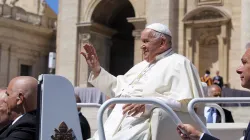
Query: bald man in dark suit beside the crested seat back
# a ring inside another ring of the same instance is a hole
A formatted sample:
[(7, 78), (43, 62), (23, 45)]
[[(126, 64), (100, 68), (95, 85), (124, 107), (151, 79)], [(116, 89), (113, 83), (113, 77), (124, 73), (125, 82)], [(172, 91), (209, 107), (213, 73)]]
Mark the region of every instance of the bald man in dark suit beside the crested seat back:
[(11, 123), (0, 130), (1, 140), (36, 138), (37, 80), (20, 76), (12, 79), (5, 92)]

